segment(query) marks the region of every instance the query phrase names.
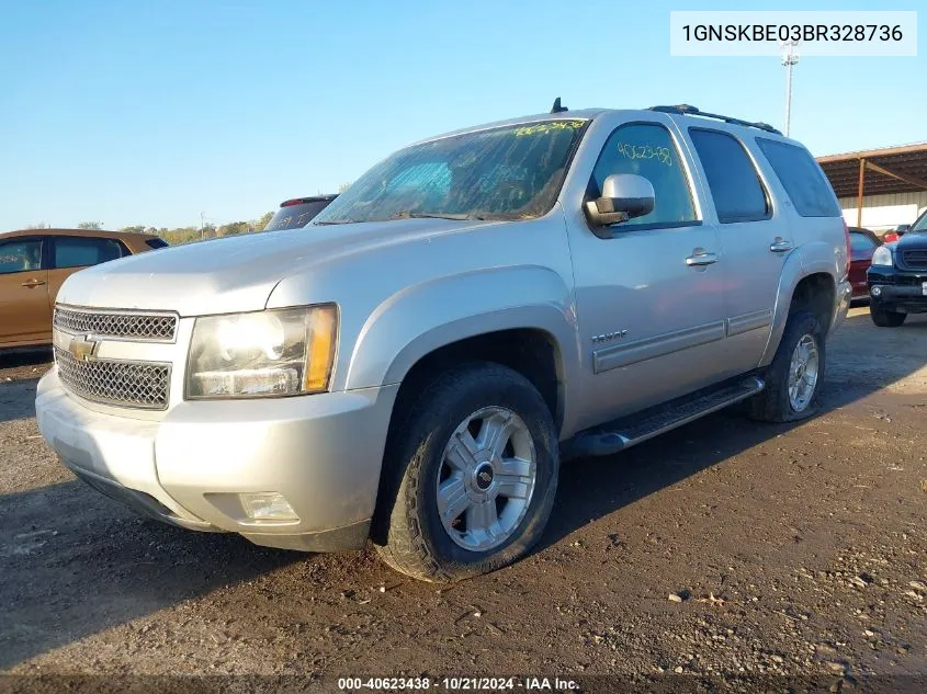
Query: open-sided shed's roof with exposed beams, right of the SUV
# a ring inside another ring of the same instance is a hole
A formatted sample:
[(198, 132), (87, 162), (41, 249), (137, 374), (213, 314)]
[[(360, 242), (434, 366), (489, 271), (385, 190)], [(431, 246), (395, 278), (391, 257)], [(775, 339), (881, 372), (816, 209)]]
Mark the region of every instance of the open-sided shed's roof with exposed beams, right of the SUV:
[(837, 197), (859, 195), (860, 161), (866, 162), (864, 195), (927, 191), (927, 143), (817, 158)]

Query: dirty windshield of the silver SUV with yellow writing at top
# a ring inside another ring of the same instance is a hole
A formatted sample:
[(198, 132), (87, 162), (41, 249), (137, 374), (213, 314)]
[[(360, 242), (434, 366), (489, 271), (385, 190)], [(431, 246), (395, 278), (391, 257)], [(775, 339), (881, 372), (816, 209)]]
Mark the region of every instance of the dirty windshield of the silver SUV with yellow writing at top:
[(543, 121), (402, 149), (351, 184), (313, 224), (540, 217), (554, 205), (585, 124)]

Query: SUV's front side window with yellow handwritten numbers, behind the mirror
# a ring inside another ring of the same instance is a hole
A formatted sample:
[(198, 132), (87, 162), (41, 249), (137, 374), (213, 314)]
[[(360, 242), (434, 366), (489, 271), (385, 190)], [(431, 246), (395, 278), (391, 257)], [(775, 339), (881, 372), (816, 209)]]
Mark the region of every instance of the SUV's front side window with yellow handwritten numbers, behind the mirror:
[(654, 186), (654, 211), (622, 221), (636, 225), (680, 225), (696, 220), (692, 194), (682, 159), (669, 132), (656, 123), (630, 123), (609, 136), (589, 182), (589, 195), (598, 197), (602, 183), (613, 173), (635, 173)]

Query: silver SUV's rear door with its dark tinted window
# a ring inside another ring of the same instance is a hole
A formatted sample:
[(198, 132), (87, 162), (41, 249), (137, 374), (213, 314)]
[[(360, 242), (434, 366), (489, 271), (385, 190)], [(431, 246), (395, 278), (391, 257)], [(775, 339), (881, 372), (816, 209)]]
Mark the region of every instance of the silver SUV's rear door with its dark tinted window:
[(761, 168), (737, 136), (711, 127), (687, 133), (724, 253), (725, 360), (744, 373), (757, 366), (769, 340), (782, 265), (794, 248), (792, 231), (784, 211), (773, 205)]

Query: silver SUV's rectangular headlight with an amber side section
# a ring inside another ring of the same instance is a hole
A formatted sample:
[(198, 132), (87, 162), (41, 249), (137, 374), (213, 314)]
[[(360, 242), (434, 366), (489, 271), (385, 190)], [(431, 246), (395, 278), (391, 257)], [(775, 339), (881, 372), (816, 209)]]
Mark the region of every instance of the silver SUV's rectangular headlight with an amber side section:
[(332, 305), (197, 318), (186, 364), (186, 397), (328, 390), (337, 332)]

